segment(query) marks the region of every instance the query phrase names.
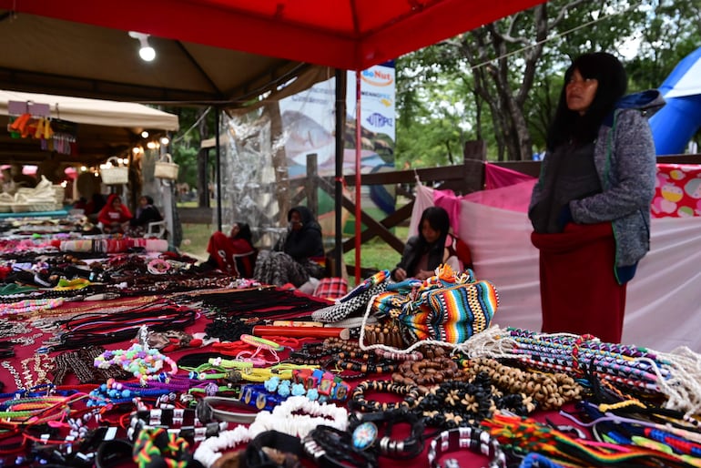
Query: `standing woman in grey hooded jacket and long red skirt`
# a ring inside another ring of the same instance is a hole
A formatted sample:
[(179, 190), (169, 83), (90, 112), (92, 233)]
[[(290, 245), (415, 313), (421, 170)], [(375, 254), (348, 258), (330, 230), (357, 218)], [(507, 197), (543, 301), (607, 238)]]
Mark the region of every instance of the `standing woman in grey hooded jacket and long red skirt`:
[(528, 211), (540, 250), (543, 331), (620, 342), (625, 287), (650, 249), (656, 90), (624, 97), (621, 62), (603, 52), (564, 75)]

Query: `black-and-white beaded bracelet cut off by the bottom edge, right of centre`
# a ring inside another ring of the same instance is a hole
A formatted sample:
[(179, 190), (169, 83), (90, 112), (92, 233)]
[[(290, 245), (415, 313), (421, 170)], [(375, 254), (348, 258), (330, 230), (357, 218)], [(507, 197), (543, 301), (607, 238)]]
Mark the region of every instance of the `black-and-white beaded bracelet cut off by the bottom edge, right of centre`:
[(472, 427), (459, 427), (438, 434), (429, 446), (429, 463), (432, 468), (460, 466), (456, 463), (441, 463), (439, 460), (445, 453), (457, 452), (464, 448), (490, 457), (487, 465), (489, 468), (506, 468), (506, 455), (499, 442), (489, 432)]

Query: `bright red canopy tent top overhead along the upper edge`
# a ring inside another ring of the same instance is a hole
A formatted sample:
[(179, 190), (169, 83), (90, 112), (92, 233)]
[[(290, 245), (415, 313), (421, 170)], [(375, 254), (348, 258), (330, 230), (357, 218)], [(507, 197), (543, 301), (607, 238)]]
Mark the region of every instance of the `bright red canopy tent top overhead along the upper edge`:
[(0, 0), (16, 12), (362, 70), (543, 0)]

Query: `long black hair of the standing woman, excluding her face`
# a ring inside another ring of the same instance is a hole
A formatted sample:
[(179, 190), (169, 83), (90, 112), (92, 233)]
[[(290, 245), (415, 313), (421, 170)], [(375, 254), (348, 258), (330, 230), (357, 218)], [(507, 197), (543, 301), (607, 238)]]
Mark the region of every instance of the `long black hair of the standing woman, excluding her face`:
[[(565, 88), (574, 70), (579, 70), (584, 78), (594, 78), (598, 81), (594, 101), (584, 116), (567, 107)], [(553, 151), (554, 148), (569, 141), (578, 144), (594, 141), (604, 118), (614, 110), (616, 101), (625, 95), (627, 87), (625, 69), (615, 56), (605, 52), (595, 52), (574, 59), (564, 73), (560, 100), (553, 122), (548, 129), (548, 150)]]

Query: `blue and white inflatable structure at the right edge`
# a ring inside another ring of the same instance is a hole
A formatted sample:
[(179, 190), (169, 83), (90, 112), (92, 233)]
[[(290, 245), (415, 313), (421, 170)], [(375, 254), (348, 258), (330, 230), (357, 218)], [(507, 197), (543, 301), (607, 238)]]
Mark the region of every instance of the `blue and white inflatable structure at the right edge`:
[(666, 106), (650, 117), (657, 155), (676, 155), (701, 127), (701, 47), (681, 60), (659, 87)]

